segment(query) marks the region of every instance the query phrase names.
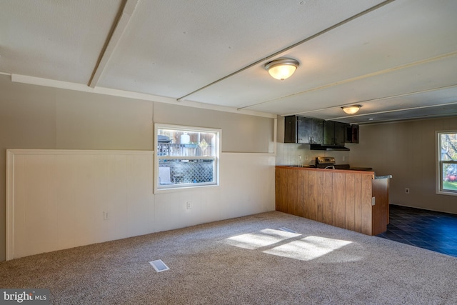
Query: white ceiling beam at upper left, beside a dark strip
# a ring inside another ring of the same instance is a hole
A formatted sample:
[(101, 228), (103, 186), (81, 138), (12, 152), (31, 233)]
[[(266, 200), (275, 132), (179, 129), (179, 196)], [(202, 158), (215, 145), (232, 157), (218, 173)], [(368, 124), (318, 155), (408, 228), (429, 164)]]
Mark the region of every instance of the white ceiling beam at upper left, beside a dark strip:
[(103, 74), (106, 65), (108, 64), (111, 55), (114, 53), (117, 44), (121, 40), (124, 31), (129, 25), (131, 16), (134, 14), (136, 5), (139, 3), (139, 1), (140, 0), (126, 0), (124, 2), (122, 13), (118, 16), (116, 21), (114, 21), (114, 30), (109, 33), (104, 49), (101, 50), (99, 61), (97, 62), (89, 81), (89, 87), (95, 88), (99, 82), (99, 79)]

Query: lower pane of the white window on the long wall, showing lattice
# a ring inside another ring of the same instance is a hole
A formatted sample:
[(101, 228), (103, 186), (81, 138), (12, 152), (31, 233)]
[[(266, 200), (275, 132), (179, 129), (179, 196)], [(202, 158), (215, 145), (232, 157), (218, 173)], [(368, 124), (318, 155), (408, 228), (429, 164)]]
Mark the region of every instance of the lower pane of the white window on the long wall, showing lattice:
[(159, 185), (214, 183), (214, 159), (159, 159)]

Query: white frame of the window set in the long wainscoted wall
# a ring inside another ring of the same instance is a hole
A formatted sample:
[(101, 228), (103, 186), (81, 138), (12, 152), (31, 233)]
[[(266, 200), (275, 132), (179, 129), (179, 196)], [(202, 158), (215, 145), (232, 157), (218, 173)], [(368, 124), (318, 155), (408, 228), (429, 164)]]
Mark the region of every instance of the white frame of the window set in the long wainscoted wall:
[[(159, 144), (159, 129), (171, 129), (176, 131), (189, 131), (189, 132), (209, 132), (216, 134), (215, 141), (215, 156), (160, 156), (158, 154), (158, 144)], [(214, 128), (204, 128), (204, 127), (195, 127), (195, 126), (182, 126), (182, 125), (173, 125), (173, 124), (154, 124), (154, 194), (161, 192), (169, 191), (178, 191), (183, 189), (194, 189), (201, 187), (211, 187), (219, 186), (219, 158), (221, 156), (221, 129)], [(214, 160), (214, 181), (211, 182), (201, 182), (201, 183), (189, 183), (189, 184), (160, 184), (159, 182), (159, 161), (161, 159), (176, 159), (176, 160), (193, 160), (193, 159), (211, 159)]]

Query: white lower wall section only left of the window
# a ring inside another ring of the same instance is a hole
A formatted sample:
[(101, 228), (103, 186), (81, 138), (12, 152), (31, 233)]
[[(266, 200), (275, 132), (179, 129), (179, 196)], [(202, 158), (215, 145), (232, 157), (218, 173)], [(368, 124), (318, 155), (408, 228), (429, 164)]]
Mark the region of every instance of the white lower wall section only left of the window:
[(154, 231), (151, 152), (11, 150), (8, 157), (6, 259)]

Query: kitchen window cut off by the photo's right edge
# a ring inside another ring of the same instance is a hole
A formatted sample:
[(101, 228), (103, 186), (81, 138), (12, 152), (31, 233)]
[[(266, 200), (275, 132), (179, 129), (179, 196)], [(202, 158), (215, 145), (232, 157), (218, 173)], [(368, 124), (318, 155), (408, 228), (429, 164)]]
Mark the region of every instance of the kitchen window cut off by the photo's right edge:
[(457, 131), (438, 132), (438, 193), (457, 195)]

